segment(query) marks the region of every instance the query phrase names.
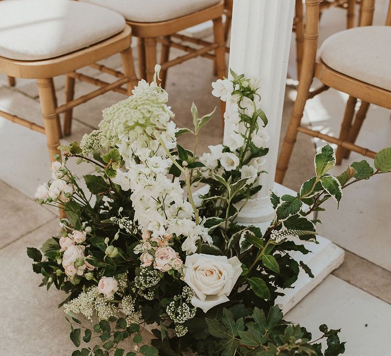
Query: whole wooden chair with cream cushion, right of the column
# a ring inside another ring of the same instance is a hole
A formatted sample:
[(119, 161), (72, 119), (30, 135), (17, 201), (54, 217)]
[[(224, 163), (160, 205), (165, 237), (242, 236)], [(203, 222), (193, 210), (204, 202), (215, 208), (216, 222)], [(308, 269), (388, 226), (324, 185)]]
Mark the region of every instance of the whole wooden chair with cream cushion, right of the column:
[[(337, 144), (337, 163), (341, 163), (349, 151), (375, 157), (376, 152), (354, 144), (369, 103), (391, 109), (391, 3), (386, 26), (371, 26), (374, 2), (362, 0), (360, 26), (327, 38), (317, 55), (319, 0), (306, 0), (303, 67), (288, 131), (277, 162), (277, 183), (283, 183), (298, 132)], [(323, 85), (310, 92), (314, 77)], [(305, 102), (329, 87), (349, 94), (339, 138), (300, 125)], [(361, 99), (362, 103), (352, 125), (357, 99)]]

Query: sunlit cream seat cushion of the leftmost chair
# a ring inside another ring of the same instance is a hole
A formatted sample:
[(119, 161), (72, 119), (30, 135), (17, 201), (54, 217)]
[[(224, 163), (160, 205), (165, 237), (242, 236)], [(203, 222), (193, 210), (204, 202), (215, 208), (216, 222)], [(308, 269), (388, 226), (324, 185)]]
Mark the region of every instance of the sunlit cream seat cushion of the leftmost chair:
[(0, 56), (45, 60), (91, 46), (124, 27), (122, 15), (72, 0), (0, 1)]

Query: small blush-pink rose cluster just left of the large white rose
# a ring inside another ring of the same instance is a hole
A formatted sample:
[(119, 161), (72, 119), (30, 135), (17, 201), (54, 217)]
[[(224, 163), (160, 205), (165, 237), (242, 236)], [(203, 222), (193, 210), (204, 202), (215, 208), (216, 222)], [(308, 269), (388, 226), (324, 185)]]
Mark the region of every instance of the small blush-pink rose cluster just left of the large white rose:
[(149, 231), (145, 231), (142, 239), (142, 243), (134, 248), (135, 253), (141, 253), (142, 267), (149, 267), (153, 263), (153, 267), (161, 272), (182, 268), (179, 254), (169, 246), (172, 235), (151, 236)]

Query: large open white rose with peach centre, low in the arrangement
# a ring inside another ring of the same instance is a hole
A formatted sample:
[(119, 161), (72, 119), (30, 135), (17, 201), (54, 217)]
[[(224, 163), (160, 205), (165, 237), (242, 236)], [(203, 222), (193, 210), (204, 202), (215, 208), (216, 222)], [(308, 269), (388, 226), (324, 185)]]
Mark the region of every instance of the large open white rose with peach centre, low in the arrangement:
[(205, 313), (229, 301), (228, 295), (242, 273), (236, 256), (227, 258), (195, 253), (186, 257), (185, 266), (184, 281), (195, 293), (191, 304)]

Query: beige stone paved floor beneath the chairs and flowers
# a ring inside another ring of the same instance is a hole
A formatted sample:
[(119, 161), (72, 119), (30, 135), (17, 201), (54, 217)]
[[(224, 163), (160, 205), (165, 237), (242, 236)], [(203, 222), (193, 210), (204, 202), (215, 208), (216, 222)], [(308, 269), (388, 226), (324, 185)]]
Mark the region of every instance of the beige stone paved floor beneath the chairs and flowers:
[[(384, 5), (384, 0), (379, 0)], [(376, 13), (376, 21), (381, 13)], [(344, 14), (334, 9), (322, 17), (323, 36), (343, 27)], [(342, 28), (341, 28), (342, 29)], [(289, 71), (294, 77), (294, 46)], [(117, 56), (104, 63), (120, 67)], [(93, 69), (85, 73), (102, 80), (107, 75)], [(167, 91), (176, 113), (179, 127), (191, 124), (189, 108), (194, 101), (201, 113), (210, 112), (219, 102), (210, 94), (210, 82), (215, 80), (211, 63), (196, 59), (176, 66), (169, 74)], [(64, 100), (64, 78), (55, 79), (59, 102)], [(92, 86), (77, 83), (76, 95), (85, 94)], [(41, 123), (35, 83), (17, 80), (8, 86), (0, 76), (0, 109)], [(295, 97), (295, 87), (287, 86), (282, 134)], [(107, 93), (74, 110), (73, 133), (63, 142), (80, 139), (100, 121), (103, 108), (123, 99), (117, 93)], [(312, 126), (338, 133), (346, 96), (328, 91), (313, 99), (306, 109), (306, 121)], [(381, 128), (381, 130), (379, 130)], [(358, 141), (373, 149), (391, 146), (389, 111), (371, 107)], [(219, 113), (212, 126), (203, 132), (200, 153), (208, 144), (222, 138)], [(182, 142), (192, 147), (192, 142)], [(300, 135), (295, 146), (285, 185), (298, 189), (313, 172), (314, 142)], [(40, 277), (32, 272), (26, 246), (40, 247), (48, 236), (58, 232), (57, 212), (33, 201), (39, 183), (48, 179), (49, 163), (45, 137), (14, 125), (0, 117), (0, 354), (5, 356), (70, 355), (72, 344), (67, 334), (68, 323), (57, 305), (63, 295), (54, 289), (38, 288)], [(352, 155), (349, 162), (360, 160)], [(344, 161), (346, 166), (348, 161)], [(83, 166), (74, 166), (77, 174), (88, 173)], [(342, 168), (337, 168), (342, 169)], [(312, 291), (287, 314), (287, 319), (302, 322), (316, 335), (323, 321), (332, 328), (342, 327), (342, 338), (348, 340), (348, 356), (389, 355), (389, 315), (391, 313), (391, 223), (389, 211), (391, 180), (357, 184), (346, 192), (339, 211), (330, 204), (320, 214), (321, 233), (346, 250), (345, 262), (332, 276)], [(304, 313), (304, 311), (306, 311)], [(311, 311), (311, 312), (309, 312)]]

